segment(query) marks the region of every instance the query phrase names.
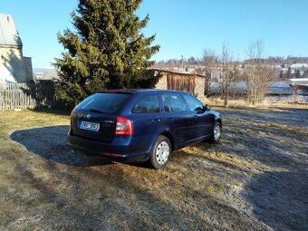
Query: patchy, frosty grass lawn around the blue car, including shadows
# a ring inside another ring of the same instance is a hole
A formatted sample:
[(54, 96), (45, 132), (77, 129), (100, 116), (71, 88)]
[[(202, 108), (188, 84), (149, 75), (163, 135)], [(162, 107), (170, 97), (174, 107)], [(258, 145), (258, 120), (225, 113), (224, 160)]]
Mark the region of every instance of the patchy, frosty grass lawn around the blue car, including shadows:
[(161, 170), (72, 150), (67, 116), (0, 112), (0, 230), (308, 230), (308, 111), (217, 111), (220, 143)]

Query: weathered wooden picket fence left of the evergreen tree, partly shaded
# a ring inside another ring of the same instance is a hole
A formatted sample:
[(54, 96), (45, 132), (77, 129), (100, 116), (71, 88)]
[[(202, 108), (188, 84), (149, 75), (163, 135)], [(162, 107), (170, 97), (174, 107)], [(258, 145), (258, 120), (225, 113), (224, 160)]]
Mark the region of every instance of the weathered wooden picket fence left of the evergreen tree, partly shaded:
[[(61, 105), (53, 82), (0, 83), (0, 111)], [(53, 108), (54, 108), (53, 107)]]

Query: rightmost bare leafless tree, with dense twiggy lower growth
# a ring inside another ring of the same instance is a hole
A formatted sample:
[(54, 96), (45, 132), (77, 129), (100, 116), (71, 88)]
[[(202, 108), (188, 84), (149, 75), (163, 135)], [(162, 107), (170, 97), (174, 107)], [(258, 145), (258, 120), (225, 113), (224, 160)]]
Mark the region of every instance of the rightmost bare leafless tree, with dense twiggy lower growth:
[(271, 81), (271, 68), (265, 63), (265, 43), (257, 40), (249, 43), (247, 55), (248, 63), (245, 65), (247, 82), (247, 100), (255, 105), (265, 99), (268, 93), (268, 83)]

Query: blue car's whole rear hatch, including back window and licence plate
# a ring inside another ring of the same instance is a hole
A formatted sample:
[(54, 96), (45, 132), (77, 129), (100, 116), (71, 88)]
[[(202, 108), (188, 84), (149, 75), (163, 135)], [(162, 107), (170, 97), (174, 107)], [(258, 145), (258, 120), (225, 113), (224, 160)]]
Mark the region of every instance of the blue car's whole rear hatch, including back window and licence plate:
[(72, 111), (71, 134), (85, 139), (111, 142), (115, 136), (118, 111), (129, 100), (126, 92), (98, 92)]

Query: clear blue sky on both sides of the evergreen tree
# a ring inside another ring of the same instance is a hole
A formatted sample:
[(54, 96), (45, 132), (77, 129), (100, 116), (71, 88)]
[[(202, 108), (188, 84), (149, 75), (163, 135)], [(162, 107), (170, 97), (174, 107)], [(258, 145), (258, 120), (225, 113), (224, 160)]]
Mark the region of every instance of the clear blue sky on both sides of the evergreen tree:
[[(1, 0), (0, 13), (13, 14), (33, 66), (48, 67), (61, 57), (57, 33), (72, 28), (77, 0)], [(205, 48), (220, 53), (228, 43), (245, 59), (248, 43), (265, 42), (266, 55), (308, 56), (307, 0), (144, 0), (137, 14), (150, 15), (146, 35), (156, 34), (161, 48), (153, 59), (183, 54), (202, 57)]]

